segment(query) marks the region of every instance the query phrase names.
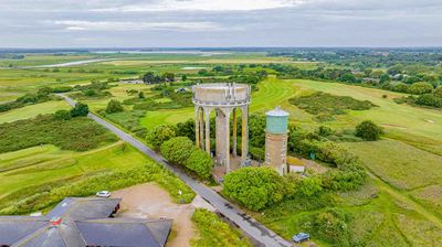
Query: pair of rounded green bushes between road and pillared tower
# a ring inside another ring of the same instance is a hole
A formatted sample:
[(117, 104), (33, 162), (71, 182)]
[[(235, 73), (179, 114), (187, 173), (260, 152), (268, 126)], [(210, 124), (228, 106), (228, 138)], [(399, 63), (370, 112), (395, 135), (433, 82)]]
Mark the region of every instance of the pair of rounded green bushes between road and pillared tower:
[(164, 158), (194, 172), (203, 180), (210, 179), (212, 175), (212, 158), (209, 153), (194, 147), (187, 137), (176, 137), (165, 141), (160, 151)]

